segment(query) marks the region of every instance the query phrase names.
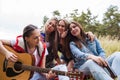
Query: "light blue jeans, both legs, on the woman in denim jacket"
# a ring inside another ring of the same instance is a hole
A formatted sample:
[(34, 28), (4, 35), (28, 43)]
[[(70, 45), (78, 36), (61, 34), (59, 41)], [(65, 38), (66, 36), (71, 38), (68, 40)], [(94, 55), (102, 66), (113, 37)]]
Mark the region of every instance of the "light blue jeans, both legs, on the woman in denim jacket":
[[(106, 59), (118, 76), (120, 80), (120, 52), (115, 52)], [(99, 66), (93, 60), (87, 60), (82, 66), (79, 67), (80, 71), (85, 72), (85, 74), (92, 74), (96, 80), (113, 80), (106, 69)]]

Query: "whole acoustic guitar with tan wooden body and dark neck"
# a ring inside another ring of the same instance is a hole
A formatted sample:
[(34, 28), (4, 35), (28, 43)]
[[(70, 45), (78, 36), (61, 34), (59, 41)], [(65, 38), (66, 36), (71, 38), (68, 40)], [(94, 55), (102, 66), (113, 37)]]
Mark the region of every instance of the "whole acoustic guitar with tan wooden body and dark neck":
[[(33, 66), (33, 59), (30, 54), (17, 53), (9, 46), (5, 46), (5, 48), (17, 55), (18, 61), (14, 63), (6, 60), (5, 56), (0, 53), (0, 80), (29, 80), (31, 72), (33, 71), (48, 73), (52, 70)], [(55, 72), (57, 75), (77, 78), (78, 80), (80, 80), (80, 76), (82, 76), (82, 72), (65, 72), (58, 70), (52, 70), (52, 72)]]

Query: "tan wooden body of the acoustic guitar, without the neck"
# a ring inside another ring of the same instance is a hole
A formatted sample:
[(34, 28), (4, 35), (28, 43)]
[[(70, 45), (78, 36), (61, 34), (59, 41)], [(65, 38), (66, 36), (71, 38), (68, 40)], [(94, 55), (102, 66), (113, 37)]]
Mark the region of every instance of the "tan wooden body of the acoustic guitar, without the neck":
[[(29, 66), (33, 64), (32, 56), (30, 54), (17, 53), (9, 46), (5, 47), (18, 56), (18, 62), (16, 63), (26, 64)], [(29, 80), (31, 72), (24, 71), (21, 68), (16, 67), (16, 63), (6, 60), (5, 56), (0, 53), (0, 80)]]

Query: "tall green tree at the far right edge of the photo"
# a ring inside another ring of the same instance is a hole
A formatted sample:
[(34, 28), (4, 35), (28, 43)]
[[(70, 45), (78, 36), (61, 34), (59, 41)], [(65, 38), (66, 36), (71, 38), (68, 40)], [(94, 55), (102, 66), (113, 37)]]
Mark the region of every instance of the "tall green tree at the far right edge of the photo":
[(103, 26), (106, 35), (120, 39), (120, 12), (117, 6), (110, 6), (104, 13)]

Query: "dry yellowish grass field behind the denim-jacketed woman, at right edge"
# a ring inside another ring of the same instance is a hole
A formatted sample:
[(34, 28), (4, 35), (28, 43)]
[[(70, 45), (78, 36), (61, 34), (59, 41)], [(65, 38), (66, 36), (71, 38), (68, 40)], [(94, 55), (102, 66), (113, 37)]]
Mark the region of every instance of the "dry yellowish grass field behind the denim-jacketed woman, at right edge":
[(112, 40), (109, 37), (99, 37), (99, 40), (107, 56), (112, 54), (113, 52), (120, 52), (120, 40)]

